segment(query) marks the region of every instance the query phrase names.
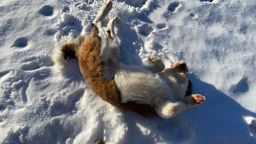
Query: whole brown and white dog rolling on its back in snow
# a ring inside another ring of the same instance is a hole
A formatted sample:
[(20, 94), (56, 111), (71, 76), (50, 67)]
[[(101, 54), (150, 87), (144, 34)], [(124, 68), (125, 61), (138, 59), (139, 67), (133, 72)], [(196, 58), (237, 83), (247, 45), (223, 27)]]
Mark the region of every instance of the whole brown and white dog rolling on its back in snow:
[(205, 97), (185, 97), (188, 87), (187, 65), (177, 62), (165, 68), (158, 57), (149, 56), (149, 66), (126, 66), (117, 61), (119, 44), (114, 31), (116, 18), (109, 20), (106, 32), (101, 23), (112, 9), (107, 0), (92, 23), (88, 36), (80, 35), (53, 53), (55, 68), (65, 68), (68, 58), (78, 60), (79, 69), (91, 89), (118, 108), (143, 116), (171, 118), (201, 104)]

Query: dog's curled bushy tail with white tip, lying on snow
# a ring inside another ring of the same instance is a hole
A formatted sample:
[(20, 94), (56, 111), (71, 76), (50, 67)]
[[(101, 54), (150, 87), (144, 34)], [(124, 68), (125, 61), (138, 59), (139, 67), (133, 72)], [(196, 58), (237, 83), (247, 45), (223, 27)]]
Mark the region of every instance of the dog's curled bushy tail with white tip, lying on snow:
[(84, 41), (85, 36), (80, 35), (76, 39), (72, 39), (62, 44), (54, 50), (52, 60), (54, 62), (54, 71), (63, 71), (69, 58), (76, 58), (76, 52)]

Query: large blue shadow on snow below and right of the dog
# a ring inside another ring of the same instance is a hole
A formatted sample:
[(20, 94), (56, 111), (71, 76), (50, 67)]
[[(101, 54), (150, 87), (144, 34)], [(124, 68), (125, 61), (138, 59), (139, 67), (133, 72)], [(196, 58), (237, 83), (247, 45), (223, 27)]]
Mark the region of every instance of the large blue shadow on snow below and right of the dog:
[(255, 142), (244, 118), (256, 118), (256, 113), (243, 108), (228, 95), (213, 85), (200, 81), (195, 75), (190, 74), (188, 77), (193, 83), (193, 93), (206, 96), (201, 106), (189, 108), (171, 119), (144, 118), (124, 111), (128, 131), (121, 143), (155, 143), (155, 140), (170, 143)]

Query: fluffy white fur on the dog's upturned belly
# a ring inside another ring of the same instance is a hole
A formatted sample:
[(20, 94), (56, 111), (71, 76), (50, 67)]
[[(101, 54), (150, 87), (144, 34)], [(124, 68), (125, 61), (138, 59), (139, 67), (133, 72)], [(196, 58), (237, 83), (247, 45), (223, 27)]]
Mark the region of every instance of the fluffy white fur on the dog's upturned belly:
[(153, 106), (170, 94), (166, 81), (145, 69), (119, 70), (115, 75), (115, 83), (121, 92), (122, 102), (135, 101)]

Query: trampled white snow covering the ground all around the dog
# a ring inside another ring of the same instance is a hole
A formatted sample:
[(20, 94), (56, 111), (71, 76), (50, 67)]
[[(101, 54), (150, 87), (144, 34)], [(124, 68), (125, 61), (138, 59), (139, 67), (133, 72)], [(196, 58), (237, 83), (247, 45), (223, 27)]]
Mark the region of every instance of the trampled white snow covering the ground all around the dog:
[(101, 100), (75, 59), (53, 73), (55, 47), (89, 34), (102, 2), (0, 1), (0, 143), (256, 143), (256, 1), (113, 0), (119, 60), (185, 61), (206, 97), (171, 119)]

